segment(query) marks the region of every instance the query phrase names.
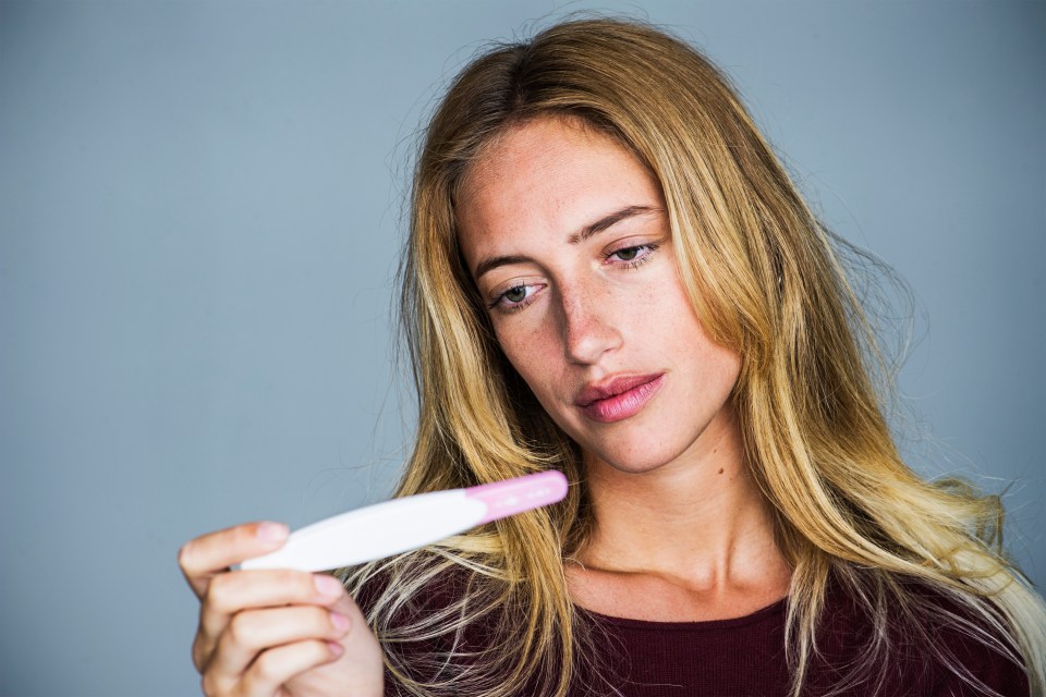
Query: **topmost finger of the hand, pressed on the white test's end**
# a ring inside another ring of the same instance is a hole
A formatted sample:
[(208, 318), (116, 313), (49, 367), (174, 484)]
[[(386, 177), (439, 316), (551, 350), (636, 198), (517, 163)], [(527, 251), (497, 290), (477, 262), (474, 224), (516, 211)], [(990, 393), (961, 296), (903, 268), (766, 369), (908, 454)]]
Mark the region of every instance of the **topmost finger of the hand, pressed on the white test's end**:
[(282, 523), (238, 525), (190, 540), (179, 550), (178, 564), (193, 591), (203, 598), (215, 574), (279, 549), (288, 535)]

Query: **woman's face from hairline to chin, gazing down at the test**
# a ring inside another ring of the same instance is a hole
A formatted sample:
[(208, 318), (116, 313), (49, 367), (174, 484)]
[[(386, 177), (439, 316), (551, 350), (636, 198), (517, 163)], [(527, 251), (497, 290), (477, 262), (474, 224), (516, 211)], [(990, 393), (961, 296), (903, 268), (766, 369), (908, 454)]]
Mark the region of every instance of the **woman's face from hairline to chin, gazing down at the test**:
[(502, 351), (589, 461), (646, 472), (733, 432), (740, 360), (697, 321), (628, 150), (561, 119), (519, 126), (470, 170), (458, 222)]

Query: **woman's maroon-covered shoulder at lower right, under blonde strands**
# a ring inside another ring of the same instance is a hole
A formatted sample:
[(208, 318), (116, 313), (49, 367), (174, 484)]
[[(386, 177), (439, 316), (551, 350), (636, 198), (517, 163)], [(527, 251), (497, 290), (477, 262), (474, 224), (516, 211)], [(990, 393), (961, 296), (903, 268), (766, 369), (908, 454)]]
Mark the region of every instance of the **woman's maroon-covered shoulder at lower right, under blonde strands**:
[(816, 682), (860, 684), (884, 697), (1029, 695), (1019, 653), (992, 617), (989, 602), (922, 583), (864, 596), (834, 583), (817, 634)]

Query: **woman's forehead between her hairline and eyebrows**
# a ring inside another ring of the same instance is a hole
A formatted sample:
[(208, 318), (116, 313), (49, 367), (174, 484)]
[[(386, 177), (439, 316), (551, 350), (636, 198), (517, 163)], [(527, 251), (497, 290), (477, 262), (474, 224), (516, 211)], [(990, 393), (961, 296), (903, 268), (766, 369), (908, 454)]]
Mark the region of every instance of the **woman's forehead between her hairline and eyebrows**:
[(610, 136), (546, 117), (491, 140), (462, 179), (459, 236), (466, 257), (538, 231), (568, 235), (625, 206), (660, 206), (649, 171)]

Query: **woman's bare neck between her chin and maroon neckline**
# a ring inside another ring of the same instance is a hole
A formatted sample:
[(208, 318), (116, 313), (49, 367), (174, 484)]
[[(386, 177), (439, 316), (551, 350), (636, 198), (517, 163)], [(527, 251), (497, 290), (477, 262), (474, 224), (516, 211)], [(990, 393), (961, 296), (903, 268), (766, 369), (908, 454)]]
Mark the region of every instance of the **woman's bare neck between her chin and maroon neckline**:
[(737, 419), (643, 473), (586, 461), (596, 525), (580, 555), (594, 571), (654, 575), (709, 596), (787, 588), (767, 502), (749, 474)]

